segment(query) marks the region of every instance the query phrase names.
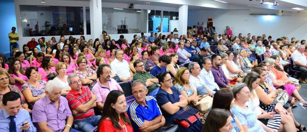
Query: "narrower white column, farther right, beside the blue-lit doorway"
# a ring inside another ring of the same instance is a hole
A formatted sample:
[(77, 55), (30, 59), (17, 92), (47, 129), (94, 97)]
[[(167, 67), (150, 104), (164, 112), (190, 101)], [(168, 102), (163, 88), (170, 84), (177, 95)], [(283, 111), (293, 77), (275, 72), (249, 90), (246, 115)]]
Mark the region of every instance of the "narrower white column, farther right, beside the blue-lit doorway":
[(181, 5), (179, 7), (179, 27), (178, 27), (179, 36), (187, 34), (187, 26), (188, 26), (188, 5)]

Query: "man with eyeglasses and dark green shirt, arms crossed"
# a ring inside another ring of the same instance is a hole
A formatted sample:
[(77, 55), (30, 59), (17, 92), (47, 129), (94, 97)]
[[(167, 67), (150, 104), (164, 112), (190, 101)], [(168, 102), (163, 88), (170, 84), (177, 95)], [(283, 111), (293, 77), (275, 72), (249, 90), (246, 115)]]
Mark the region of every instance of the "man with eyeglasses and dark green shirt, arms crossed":
[(133, 75), (133, 80), (142, 80), (145, 82), (146, 87), (148, 88), (148, 92), (158, 88), (158, 79), (151, 75), (150, 73), (145, 71), (144, 63), (140, 60), (136, 60), (133, 63), (134, 68), (136, 69), (136, 73)]

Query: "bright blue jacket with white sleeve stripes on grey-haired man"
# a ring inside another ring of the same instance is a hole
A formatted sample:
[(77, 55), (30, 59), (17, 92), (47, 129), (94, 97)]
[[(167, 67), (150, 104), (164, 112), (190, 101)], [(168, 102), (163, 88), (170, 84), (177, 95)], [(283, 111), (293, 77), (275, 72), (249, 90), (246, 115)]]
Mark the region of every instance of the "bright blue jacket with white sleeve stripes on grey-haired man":
[(162, 115), (162, 112), (157, 104), (157, 101), (152, 96), (146, 96), (146, 105), (141, 106), (136, 100), (129, 106), (127, 114), (131, 120), (134, 132), (140, 132), (139, 128), (144, 121), (151, 121)]

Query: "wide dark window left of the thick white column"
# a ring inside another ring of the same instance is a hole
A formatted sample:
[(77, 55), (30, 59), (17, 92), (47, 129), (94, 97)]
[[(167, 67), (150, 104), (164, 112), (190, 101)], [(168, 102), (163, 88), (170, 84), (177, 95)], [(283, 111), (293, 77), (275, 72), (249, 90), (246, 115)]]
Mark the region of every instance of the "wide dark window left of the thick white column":
[(20, 5), (23, 36), (84, 35), (83, 8)]

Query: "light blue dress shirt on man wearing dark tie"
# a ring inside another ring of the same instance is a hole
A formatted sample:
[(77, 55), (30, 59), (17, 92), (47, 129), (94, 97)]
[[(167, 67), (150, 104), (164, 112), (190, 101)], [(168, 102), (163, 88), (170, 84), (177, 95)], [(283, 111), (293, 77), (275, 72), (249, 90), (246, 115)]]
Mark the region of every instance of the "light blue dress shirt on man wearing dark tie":
[[(9, 132), (9, 116), (10, 115), (4, 109), (0, 110), (0, 132)], [(17, 132), (22, 132), (22, 130), (18, 128), (20, 128), (26, 120), (30, 123), (30, 128), (27, 132), (36, 132), (36, 128), (33, 126), (31, 117), (28, 111), (25, 109), (20, 109), (18, 114), (14, 118)]]

